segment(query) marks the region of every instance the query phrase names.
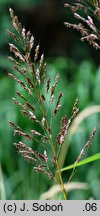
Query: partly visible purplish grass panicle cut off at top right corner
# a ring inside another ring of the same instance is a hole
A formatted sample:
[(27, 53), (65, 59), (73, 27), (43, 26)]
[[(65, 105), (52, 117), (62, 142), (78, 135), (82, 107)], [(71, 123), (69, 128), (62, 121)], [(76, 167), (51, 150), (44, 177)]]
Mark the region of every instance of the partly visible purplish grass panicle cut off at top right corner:
[(70, 9), (76, 23), (65, 22), (68, 28), (76, 29), (81, 33), (81, 41), (88, 43), (95, 49), (100, 49), (100, 29), (96, 20), (100, 20), (100, 1), (75, 0), (74, 3), (65, 3)]

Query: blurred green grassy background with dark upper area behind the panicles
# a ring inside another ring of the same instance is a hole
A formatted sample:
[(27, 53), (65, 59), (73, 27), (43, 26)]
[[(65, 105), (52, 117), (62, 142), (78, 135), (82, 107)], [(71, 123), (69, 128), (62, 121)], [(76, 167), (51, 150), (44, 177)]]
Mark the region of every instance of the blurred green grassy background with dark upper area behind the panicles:
[[(7, 73), (12, 71), (7, 56), (9, 53), (6, 29), (11, 29), (8, 9), (12, 7), (22, 25), (31, 30), (35, 43), (45, 53), (48, 73), (52, 79), (60, 73), (58, 89), (64, 93), (62, 111), (70, 116), (76, 97), (79, 98), (80, 112), (88, 106), (100, 105), (100, 65), (99, 52), (88, 44), (79, 41), (79, 34), (66, 29), (64, 21), (72, 19), (64, 8), (63, 0), (1, 0), (0, 1), (0, 199), (39, 199), (53, 184), (44, 175), (32, 172), (32, 166), (16, 153), (13, 143), (16, 141), (8, 121), (12, 120), (24, 129), (29, 122), (22, 118), (18, 108), (12, 104), (11, 97), (18, 89), (17, 84), (9, 80)], [(55, 128), (58, 129), (58, 123)], [(72, 164), (82, 146), (88, 140), (92, 129), (97, 133), (92, 147), (84, 157), (100, 152), (100, 114), (94, 113), (84, 119), (70, 140), (64, 166)], [(55, 130), (56, 132), (56, 130)], [(67, 145), (67, 141), (66, 141)], [(37, 147), (38, 148), (38, 147)], [(40, 147), (39, 147), (40, 148)], [(70, 172), (64, 173), (67, 182)], [(88, 190), (73, 190), (69, 199), (100, 199), (100, 161), (78, 168), (74, 182), (86, 182)], [(56, 199), (61, 199), (59, 194)]]

